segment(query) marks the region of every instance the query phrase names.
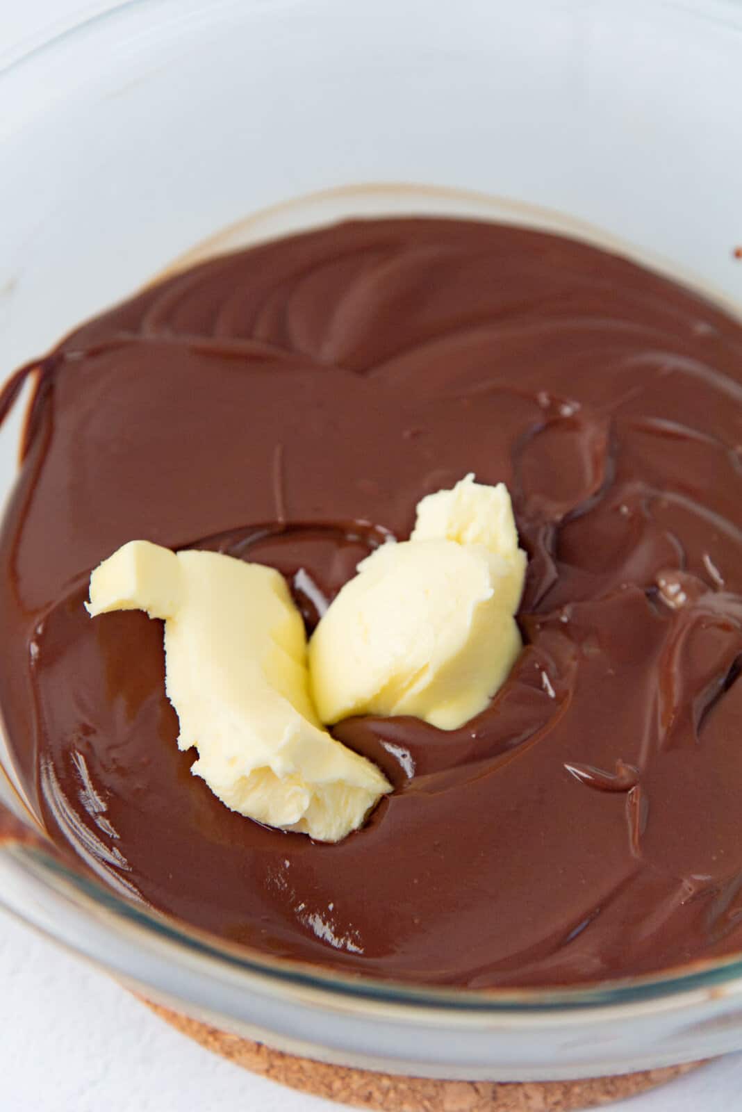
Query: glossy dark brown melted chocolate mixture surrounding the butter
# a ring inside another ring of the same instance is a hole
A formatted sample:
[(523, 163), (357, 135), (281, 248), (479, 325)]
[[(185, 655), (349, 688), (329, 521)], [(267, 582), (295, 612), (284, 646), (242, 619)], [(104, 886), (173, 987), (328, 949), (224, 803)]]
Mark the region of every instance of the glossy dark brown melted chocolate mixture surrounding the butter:
[[(398, 981), (742, 949), (739, 324), (570, 239), (369, 220), (168, 278), (36, 366), (0, 702), (59, 846), (231, 942)], [(311, 631), (469, 471), (508, 484), (529, 553), (490, 707), (334, 727), (394, 785), (338, 845), (228, 811), (176, 746), (161, 628), (92, 622), (90, 569), (132, 538), (267, 563)]]

